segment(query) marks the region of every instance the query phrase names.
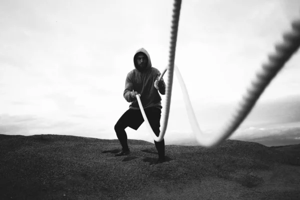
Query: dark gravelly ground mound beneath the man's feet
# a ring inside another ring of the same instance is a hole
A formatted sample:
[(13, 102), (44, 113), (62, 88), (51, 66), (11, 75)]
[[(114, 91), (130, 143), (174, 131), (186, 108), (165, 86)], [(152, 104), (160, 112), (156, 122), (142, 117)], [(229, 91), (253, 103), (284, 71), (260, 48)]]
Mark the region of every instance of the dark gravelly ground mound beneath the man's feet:
[(166, 145), (154, 164), (153, 143), (128, 144), (115, 157), (115, 139), (0, 135), (0, 199), (299, 199), (299, 145)]

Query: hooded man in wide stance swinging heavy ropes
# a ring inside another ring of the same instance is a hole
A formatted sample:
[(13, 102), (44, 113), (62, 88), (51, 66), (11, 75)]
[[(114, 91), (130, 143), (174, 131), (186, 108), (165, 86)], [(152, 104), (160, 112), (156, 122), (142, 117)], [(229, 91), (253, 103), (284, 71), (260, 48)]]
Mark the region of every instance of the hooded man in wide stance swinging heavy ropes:
[[(121, 143), (122, 150), (115, 156), (127, 155), (130, 153), (127, 144), (126, 127), (134, 130), (143, 123), (136, 95), (140, 94), (140, 100), (143, 109), (149, 121), (149, 124), (156, 136), (159, 135), (160, 116), (161, 116), (161, 97), (158, 93), (165, 94), (165, 83), (161, 78), (158, 81), (160, 72), (152, 67), (149, 53), (144, 49), (138, 49), (133, 56), (135, 69), (131, 70), (126, 77), (125, 89), (123, 92), (124, 98), (131, 102), (129, 109), (123, 113), (114, 126), (116, 136)], [(155, 147), (158, 152), (158, 160), (156, 163), (165, 161), (164, 157), (164, 139), (157, 142), (154, 140)]]

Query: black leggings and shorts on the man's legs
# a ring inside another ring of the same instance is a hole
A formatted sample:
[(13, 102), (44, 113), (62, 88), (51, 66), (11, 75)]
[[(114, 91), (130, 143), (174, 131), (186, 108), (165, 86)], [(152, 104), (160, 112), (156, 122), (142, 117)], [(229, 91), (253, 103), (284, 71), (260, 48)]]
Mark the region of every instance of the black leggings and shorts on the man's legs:
[[(157, 107), (149, 107), (144, 109), (149, 124), (156, 136), (159, 135), (160, 127), (160, 116), (161, 109)], [(125, 131), (126, 127), (130, 127), (137, 130), (138, 127), (143, 123), (144, 119), (142, 117), (141, 111), (139, 109), (128, 109), (123, 113), (123, 115), (118, 119), (114, 125), (114, 130), (118, 140), (121, 143), (123, 150), (129, 150), (127, 144), (127, 134)], [(158, 152), (159, 158), (164, 158), (164, 139), (157, 142), (154, 140), (156, 150)]]

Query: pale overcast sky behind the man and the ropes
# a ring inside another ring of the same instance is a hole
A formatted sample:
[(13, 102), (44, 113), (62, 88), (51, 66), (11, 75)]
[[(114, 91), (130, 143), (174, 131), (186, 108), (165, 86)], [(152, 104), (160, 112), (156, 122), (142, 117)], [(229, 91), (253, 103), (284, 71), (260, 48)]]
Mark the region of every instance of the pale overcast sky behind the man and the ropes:
[[(167, 65), (172, 3), (1, 0), (0, 133), (116, 138), (135, 50), (144, 47), (160, 71)], [(217, 118), (216, 105), (240, 99), (299, 10), (298, 0), (182, 1), (175, 64), (197, 116)], [(299, 62), (296, 53), (259, 102), (300, 94)], [(166, 138), (191, 130), (175, 75), (172, 94)], [(126, 131), (152, 140), (144, 124)]]

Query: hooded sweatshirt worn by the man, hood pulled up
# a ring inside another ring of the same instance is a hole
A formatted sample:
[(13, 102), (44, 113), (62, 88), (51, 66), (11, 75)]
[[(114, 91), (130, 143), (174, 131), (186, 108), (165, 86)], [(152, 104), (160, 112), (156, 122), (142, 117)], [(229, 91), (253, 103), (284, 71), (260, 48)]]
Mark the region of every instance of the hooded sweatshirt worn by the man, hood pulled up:
[[(135, 57), (139, 52), (144, 53), (148, 58), (148, 63), (144, 69), (141, 69), (136, 63)], [(131, 102), (129, 109), (139, 109), (136, 98), (132, 98), (130, 95), (133, 91), (140, 94), (140, 101), (144, 109), (148, 107), (161, 109), (161, 97), (154, 87), (154, 82), (158, 79), (160, 72), (157, 68), (152, 67), (149, 53), (144, 48), (138, 49), (133, 56), (133, 63), (135, 68), (127, 74), (123, 92), (126, 101)], [(165, 94), (165, 83), (162, 78), (161, 81), (162, 86), (159, 88), (159, 92)]]

